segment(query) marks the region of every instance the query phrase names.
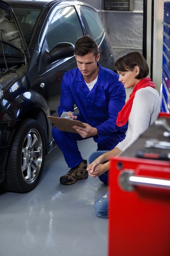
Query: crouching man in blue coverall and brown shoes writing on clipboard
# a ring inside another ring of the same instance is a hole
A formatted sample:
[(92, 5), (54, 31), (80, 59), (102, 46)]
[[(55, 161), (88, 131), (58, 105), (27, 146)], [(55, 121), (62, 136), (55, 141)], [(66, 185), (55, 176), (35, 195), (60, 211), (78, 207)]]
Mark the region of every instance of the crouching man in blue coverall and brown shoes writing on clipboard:
[[(93, 137), (97, 150), (111, 150), (125, 138), (127, 129), (127, 125), (116, 125), (118, 112), (125, 104), (124, 86), (115, 72), (99, 64), (100, 53), (95, 40), (88, 35), (79, 38), (75, 43), (75, 58), (77, 67), (66, 72), (62, 79), (58, 114), (60, 117), (63, 112), (68, 112), (70, 119), (82, 121), (85, 128), (73, 126), (77, 133), (56, 127), (52, 130), (55, 142), (71, 168), (60, 177), (60, 183), (64, 185), (88, 177), (87, 160), (82, 158), (77, 141)], [(79, 110), (75, 115), (74, 104)]]

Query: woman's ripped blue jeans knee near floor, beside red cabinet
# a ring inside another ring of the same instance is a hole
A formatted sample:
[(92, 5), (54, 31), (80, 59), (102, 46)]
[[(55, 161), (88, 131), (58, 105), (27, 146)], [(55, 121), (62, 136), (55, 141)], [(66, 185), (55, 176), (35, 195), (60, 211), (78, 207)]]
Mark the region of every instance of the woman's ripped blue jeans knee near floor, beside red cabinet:
[(95, 202), (94, 209), (97, 217), (108, 218), (108, 192)]

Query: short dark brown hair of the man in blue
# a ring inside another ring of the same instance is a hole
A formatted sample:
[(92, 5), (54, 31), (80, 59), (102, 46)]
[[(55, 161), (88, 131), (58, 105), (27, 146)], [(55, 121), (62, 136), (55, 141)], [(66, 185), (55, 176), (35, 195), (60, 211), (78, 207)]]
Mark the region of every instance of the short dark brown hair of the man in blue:
[(95, 40), (88, 35), (80, 37), (75, 43), (75, 55), (84, 56), (91, 52), (97, 58), (99, 48)]

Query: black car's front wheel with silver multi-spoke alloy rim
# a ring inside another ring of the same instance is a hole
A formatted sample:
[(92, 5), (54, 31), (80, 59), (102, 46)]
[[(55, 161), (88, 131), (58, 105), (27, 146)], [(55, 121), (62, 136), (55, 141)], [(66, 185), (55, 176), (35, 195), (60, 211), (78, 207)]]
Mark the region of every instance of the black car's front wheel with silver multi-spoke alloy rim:
[(20, 193), (35, 189), (42, 175), (44, 156), (45, 139), (40, 124), (25, 119), (13, 140), (2, 188)]

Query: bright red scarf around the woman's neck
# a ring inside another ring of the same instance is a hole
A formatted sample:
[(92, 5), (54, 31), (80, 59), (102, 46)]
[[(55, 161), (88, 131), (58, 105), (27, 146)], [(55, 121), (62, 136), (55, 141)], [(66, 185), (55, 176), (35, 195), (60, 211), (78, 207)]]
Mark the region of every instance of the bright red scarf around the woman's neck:
[(133, 104), (133, 99), (135, 97), (135, 93), (137, 92), (137, 90), (139, 90), (141, 88), (145, 88), (147, 86), (151, 86), (152, 88), (155, 89), (155, 84), (152, 81), (150, 81), (149, 77), (141, 79), (135, 85), (134, 89), (132, 90), (132, 93), (129, 96), (128, 101), (125, 103), (122, 110), (118, 113), (118, 116), (117, 116), (117, 119), (116, 119), (117, 126), (121, 127), (121, 126), (124, 126), (127, 123), (129, 115), (130, 115), (130, 111), (132, 109), (132, 104)]

